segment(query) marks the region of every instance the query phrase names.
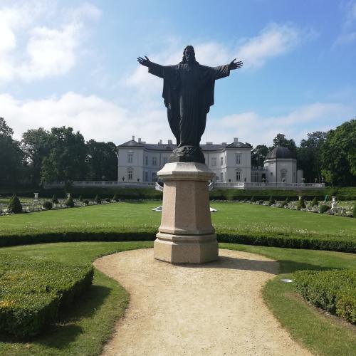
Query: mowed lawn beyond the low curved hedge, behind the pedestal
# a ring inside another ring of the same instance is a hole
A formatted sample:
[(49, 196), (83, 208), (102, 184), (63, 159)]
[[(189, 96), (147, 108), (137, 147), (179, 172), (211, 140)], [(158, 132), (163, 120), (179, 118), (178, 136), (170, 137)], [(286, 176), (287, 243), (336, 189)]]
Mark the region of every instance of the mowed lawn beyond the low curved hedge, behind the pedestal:
[[(0, 216), (0, 237), (36, 234), (152, 234), (161, 213), (152, 211), (160, 201), (122, 202), (81, 208)], [(269, 206), (211, 201), (216, 233), (236, 236), (356, 241), (356, 219)]]

